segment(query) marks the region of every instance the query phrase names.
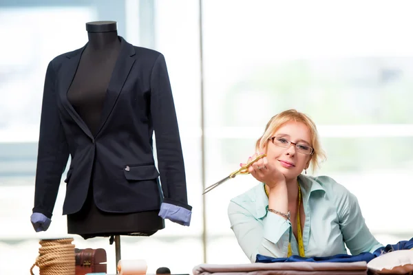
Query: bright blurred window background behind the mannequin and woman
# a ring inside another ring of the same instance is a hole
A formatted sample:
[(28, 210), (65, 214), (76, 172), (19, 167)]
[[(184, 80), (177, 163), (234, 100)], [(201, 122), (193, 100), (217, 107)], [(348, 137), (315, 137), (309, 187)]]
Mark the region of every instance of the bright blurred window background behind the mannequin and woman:
[[(88, 21), (117, 21), (129, 43), (165, 55), (193, 206), (190, 227), (166, 221), (153, 236), (122, 236), (123, 259), (145, 259), (152, 273), (248, 263), (226, 208), (257, 182), (240, 176), (204, 197), (202, 190), (237, 169), (266, 122), (290, 108), (319, 127), (328, 159), (315, 175), (334, 177), (357, 196), (381, 243), (410, 239), (412, 5), (0, 0), (0, 274), (28, 274), (39, 239), (70, 236), (64, 184), (47, 232), (34, 232), (30, 214), (46, 67), (87, 43)], [(108, 273), (115, 271), (108, 238), (73, 237), (77, 248), (105, 248)]]

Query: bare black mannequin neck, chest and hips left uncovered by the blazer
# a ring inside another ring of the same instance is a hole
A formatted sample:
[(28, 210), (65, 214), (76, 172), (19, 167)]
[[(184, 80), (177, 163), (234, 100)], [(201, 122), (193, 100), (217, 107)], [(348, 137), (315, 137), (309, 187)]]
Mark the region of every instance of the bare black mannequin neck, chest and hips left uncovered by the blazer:
[[(120, 50), (116, 22), (86, 23), (89, 43), (81, 56), (67, 99), (96, 135), (107, 86)], [(94, 236), (140, 235), (150, 236), (165, 228), (159, 210), (135, 213), (109, 213), (96, 207), (93, 198), (94, 177), (81, 211), (67, 215), (67, 232), (84, 239)]]

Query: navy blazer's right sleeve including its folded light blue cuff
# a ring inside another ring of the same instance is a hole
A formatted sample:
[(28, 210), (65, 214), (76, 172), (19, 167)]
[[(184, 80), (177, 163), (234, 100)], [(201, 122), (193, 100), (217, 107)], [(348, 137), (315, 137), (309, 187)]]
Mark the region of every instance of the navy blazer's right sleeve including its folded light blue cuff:
[[(185, 220), (182, 221), (182, 224), (189, 225), (188, 219), (190, 219), (192, 207), (188, 204), (178, 121), (167, 64), (162, 54), (159, 54), (151, 72), (151, 118), (155, 131), (158, 168), (164, 195), (160, 216), (163, 215), (169, 219), (163, 210), (169, 208), (172, 212), (176, 212), (180, 209), (178, 214), (181, 217), (184, 216)], [(178, 217), (178, 219), (181, 218)]]

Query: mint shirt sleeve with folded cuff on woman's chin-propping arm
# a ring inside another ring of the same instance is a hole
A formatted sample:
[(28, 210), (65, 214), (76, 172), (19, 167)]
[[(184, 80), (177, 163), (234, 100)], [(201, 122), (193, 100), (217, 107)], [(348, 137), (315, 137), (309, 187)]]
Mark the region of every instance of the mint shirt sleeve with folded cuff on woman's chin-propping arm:
[(254, 207), (255, 203), (246, 203), (232, 200), (229, 203), (228, 215), (231, 229), (251, 263), (255, 263), (257, 254), (286, 257), (290, 221), (268, 211), (264, 217), (254, 217), (246, 208)]

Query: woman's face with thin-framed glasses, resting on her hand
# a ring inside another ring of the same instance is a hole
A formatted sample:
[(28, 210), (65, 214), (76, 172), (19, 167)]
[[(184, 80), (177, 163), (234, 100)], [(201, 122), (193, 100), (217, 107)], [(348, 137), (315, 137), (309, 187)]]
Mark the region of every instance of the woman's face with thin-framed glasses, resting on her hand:
[(310, 164), (308, 153), (313, 150), (313, 144), (308, 127), (302, 122), (287, 122), (271, 137), (275, 138), (266, 145), (268, 162), (272, 162), (287, 180), (295, 179)]

